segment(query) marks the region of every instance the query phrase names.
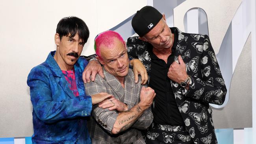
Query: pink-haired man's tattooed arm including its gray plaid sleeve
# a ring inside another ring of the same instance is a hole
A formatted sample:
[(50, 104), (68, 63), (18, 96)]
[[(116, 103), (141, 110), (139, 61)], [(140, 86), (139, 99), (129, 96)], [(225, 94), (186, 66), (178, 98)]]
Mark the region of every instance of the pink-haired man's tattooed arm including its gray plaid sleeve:
[[(139, 83), (137, 85), (139, 85)], [(94, 82), (85, 83), (85, 91), (87, 92), (87, 94), (90, 95), (100, 92), (113, 92), (111, 87), (109, 87), (109, 84), (98, 74), (96, 75)], [(133, 107), (129, 105), (130, 111), (118, 112), (116, 109), (103, 109), (102, 107), (98, 107), (98, 105), (94, 105), (92, 110), (92, 116), (95, 119), (95, 122), (97, 122), (103, 129), (111, 134), (119, 133), (121, 132), (121, 129), (122, 131), (124, 131), (124, 129), (128, 129), (128, 127), (134, 124), (134, 122), (136, 122), (137, 124), (138, 118), (140, 120), (141, 114), (144, 111), (148, 111), (146, 109), (150, 107), (153, 102), (154, 96), (156, 95), (154, 93), (154, 90), (149, 87), (143, 87), (139, 92), (140, 93), (138, 94), (140, 94), (140, 102), (137, 103), (137, 105), (135, 106), (133, 105)], [(118, 97), (115, 98), (119, 99)], [(140, 107), (140, 109), (138, 106)]]

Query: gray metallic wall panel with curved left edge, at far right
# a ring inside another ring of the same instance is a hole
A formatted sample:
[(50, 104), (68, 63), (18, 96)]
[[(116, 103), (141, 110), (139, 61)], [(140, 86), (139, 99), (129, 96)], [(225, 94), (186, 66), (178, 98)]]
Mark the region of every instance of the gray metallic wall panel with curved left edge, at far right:
[(237, 61), (229, 95), (229, 102), (225, 107), (213, 109), (215, 128), (252, 127), (251, 35)]

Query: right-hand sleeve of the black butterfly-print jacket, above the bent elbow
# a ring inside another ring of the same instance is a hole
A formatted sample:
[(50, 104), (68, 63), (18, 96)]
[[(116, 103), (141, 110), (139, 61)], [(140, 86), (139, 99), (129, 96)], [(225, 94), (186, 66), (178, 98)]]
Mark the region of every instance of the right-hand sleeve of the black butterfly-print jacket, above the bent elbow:
[(202, 74), (202, 79), (191, 76), (189, 90), (185, 89), (185, 93), (187, 97), (204, 103), (222, 105), (226, 86), (208, 35), (205, 35), (203, 47), (202, 59), (198, 62), (202, 68), (198, 74)]

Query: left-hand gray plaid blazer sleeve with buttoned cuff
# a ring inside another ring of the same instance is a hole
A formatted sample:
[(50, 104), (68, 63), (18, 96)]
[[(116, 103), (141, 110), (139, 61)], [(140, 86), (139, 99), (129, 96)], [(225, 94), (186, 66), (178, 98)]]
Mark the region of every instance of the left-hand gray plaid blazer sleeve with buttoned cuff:
[[(96, 75), (95, 81), (85, 84), (85, 91), (89, 95), (98, 94), (100, 92), (107, 92), (104, 81), (98, 74)], [(116, 110), (110, 111), (109, 109), (102, 109), (97, 105), (93, 106), (92, 116), (96, 122), (100, 124), (104, 129), (111, 133), (115, 121), (117, 120), (118, 112)]]

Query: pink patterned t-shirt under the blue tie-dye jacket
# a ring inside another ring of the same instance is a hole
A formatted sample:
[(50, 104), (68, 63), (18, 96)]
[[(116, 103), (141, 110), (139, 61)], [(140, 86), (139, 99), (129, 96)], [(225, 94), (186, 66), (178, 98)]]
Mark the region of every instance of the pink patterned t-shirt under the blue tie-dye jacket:
[(72, 90), (75, 96), (79, 96), (79, 92), (76, 87), (76, 76), (74, 68), (72, 70), (61, 70), (65, 76), (65, 79), (69, 83), (69, 89)]

